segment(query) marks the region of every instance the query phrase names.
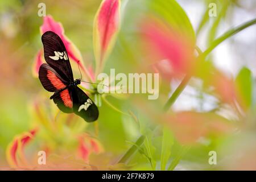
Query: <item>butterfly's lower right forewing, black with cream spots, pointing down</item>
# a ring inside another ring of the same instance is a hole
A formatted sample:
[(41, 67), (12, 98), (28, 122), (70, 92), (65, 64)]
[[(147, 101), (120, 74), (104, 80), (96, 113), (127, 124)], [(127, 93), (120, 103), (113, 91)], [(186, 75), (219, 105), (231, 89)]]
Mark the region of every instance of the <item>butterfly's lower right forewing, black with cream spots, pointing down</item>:
[(78, 86), (71, 88), (71, 95), (75, 114), (82, 117), (86, 122), (93, 122), (98, 119), (98, 107)]

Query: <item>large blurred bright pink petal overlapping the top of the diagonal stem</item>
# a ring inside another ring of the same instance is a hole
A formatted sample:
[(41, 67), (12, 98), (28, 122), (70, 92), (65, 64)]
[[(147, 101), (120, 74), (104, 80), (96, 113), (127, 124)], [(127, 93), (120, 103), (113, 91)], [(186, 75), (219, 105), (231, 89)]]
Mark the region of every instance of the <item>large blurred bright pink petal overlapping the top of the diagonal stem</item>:
[(172, 76), (193, 70), (195, 47), (192, 40), (155, 18), (144, 20), (141, 29), (146, 60), (154, 63), (158, 72)]

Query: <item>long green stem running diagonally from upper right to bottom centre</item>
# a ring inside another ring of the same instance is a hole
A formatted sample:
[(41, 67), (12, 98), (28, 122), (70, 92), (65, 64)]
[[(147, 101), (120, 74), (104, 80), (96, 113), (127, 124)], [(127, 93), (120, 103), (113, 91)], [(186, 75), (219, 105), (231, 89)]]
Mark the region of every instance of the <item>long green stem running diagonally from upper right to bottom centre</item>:
[[(202, 61), (205, 59), (205, 57), (207, 55), (209, 55), (209, 53), (216, 48), (220, 43), (224, 42), (224, 40), (230, 38), (230, 36), (233, 36), (235, 34), (237, 34), (238, 32), (244, 30), (245, 28), (256, 24), (256, 18), (253, 20), (250, 20), (249, 22), (243, 23), (241, 26), (232, 28), (231, 30), (227, 31), (225, 34), (223, 34), (222, 36), (220, 36), (219, 38), (217, 38), (216, 40), (214, 40), (212, 42), (212, 44), (209, 46), (208, 49), (206, 49), (203, 53), (201, 53), (198, 57), (197, 60)], [(185, 86), (187, 86), (188, 81), (190, 80), (190, 78), (192, 77), (192, 75), (186, 75), (183, 80), (181, 81), (180, 85), (177, 87), (177, 89), (174, 91), (174, 93), (172, 94), (172, 96), (168, 99), (168, 101), (166, 102), (166, 105), (164, 105), (164, 111), (168, 111), (168, 109), (174, 104), (174, 102), (177, 100), (177, 97), (179, 97), (180, 93), (184, 90)], [(141, 135), (141, 137), (139, 137), (137, 139), (137, 141), (135, 142), (135, 144), (137, 144), (137, 146), (141, 146), (141, 144), (144, 142), (144, 136)], [(127, 163), (127, 161), (130, 159), (130, 157), (132, 155), (134, 155), (134, 153), (137, 151), (137, 147), (136, 146), (131, 146), (131, 148), (129, 148), (129, 150), (126, 152), (125, 155), (123, 155), (122, 159), (119, 160), (118, 163)], [(172, 166), (170, 166), (168, 169), (172, 169)]]

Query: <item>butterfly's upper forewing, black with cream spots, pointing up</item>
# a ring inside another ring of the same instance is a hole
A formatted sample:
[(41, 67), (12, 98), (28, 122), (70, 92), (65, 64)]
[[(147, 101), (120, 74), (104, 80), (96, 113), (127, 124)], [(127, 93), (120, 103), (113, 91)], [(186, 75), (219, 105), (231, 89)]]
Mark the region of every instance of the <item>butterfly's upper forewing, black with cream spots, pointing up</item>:
[(42, 35), (44, 59), (66, 81), (73, 81), (68, 53), (59, 35), (47, 31)]

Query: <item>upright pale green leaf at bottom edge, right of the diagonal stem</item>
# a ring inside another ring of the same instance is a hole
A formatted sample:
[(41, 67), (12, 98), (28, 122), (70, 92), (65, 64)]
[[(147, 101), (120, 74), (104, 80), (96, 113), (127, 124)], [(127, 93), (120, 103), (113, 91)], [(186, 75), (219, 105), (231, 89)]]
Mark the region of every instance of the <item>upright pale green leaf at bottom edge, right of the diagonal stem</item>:
[(166, 164), (171, 156), (171, 149), (174, 144), (174, 137), (169, 129), (163, 128), (162, 152), (161, 152), (161, 170), (166, 170)]

